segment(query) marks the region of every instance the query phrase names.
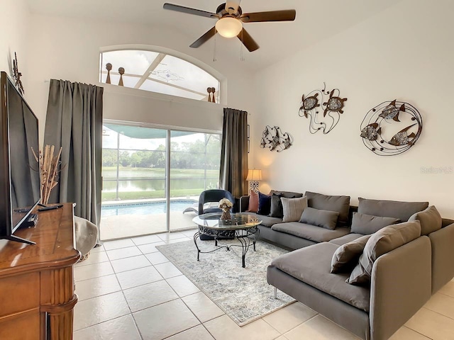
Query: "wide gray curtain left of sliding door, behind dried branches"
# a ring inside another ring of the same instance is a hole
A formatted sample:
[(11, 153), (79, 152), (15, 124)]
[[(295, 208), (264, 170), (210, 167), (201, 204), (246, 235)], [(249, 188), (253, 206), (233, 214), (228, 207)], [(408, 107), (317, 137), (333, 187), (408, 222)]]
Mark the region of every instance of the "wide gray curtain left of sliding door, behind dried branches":
[(102, 96), (99, 86), (50, 80), (44, 145), (62, 147), (58, 186), (50, 202), (74, 202), (74, 214), (101, 218)]

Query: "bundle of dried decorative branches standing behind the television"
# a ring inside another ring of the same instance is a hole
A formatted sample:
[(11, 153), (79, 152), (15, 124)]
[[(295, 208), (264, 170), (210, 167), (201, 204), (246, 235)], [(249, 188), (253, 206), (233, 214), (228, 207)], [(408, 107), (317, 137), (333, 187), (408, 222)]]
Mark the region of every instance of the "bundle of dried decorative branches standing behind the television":
[(57, 186), (57, 174), (61, 171), (58, 167), (60, 166), (60, 156), (62, 154), (62, 148), (57, 156), (54, 156), (55, 146), (46, 145), (44, 152), (39, 152), (39, 156), (32, 149), (33, 155), (35, 156), (36, 162), (40, 164), (41, 170), (41, 204), (48, 204), (50, 192), (55, 186)]

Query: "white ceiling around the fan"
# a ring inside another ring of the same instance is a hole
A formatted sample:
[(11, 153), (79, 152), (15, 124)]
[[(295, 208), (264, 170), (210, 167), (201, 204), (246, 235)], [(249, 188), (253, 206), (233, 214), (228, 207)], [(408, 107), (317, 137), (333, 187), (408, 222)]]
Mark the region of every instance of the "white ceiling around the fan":
[[(165, 2), (216, 12), (222, 1), (214, 0), (26, 0), (32, 13), (72, 18), (172, 26), (189, 35), (187, 45), (209, 30), (216, 19), (192, 16), (162, 8)], [(399, 0), (401, 1), (401, 0)], [(295, 9), (297, 18), (283, 23), (245, 23), (244, 28), (260, 45), (246, 53), (251, 69), (275, 63), (286, 55), (336, 35), (377, 12), (393, 6), (397, 0), (243, 0), (243, 13)], [(384, 23), (386, 24), (386, 23)], [(226, 39), (226, 38), (219, 38)], [(206, 42), (210, 44), (211, 41)], [(213, 43), (213, 42), (211, 42)], [(218, 42), (219, 43), (219, 40)], [(231, 42), (229, 42), (231, 43)], [(204, 47), (204, 46), (202, 46)], [(200, 48), (202, 48), (200, 47)], [(238, 59), (238, 50), (232, 52)]]

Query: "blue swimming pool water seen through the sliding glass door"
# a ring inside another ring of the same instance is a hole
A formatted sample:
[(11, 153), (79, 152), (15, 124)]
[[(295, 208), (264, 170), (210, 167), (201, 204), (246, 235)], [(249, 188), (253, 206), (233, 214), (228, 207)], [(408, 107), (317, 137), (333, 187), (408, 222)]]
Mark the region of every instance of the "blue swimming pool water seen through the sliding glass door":
[[(183, 212), (184, 209), (191, 207), (196, 202), (196, 200), (171, 200), (170, 211)], [(165, 200), (147, 203), (101, 206), (101, 217), (118, 215), (150, 215), (165, 212), (167, 212), (167, 204)]]

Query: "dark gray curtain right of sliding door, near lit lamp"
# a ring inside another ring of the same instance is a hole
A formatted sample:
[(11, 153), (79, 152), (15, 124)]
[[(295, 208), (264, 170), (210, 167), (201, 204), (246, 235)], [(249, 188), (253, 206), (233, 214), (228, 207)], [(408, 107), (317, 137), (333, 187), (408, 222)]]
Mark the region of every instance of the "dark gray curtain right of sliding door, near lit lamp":
[(248, 193), (248, 113), (224, 108), (219, 183), (240, 198)]

